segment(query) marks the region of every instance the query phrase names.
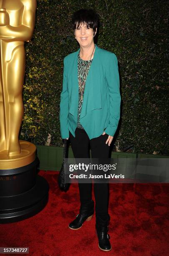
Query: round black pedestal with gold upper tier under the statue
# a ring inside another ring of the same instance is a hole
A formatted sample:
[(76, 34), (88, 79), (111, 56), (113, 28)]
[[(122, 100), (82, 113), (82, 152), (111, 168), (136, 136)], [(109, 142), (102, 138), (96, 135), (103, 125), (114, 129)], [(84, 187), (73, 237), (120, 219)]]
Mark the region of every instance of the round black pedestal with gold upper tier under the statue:
[(40, 212), (48, 202), (48, 182), (37, 175), (36, 147), (20, 141), (21, 154), (0, 152), (0, 223), (13, 223)]

